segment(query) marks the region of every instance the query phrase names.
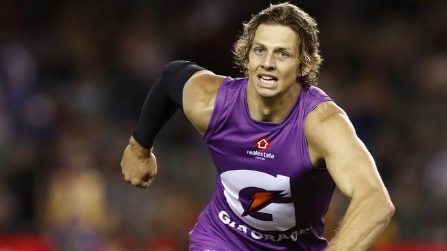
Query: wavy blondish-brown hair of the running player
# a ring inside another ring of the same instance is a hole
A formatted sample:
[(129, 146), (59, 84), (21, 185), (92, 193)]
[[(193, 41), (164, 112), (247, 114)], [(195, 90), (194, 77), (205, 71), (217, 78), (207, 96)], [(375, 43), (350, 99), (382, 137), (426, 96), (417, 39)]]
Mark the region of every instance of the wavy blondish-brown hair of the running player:
[(309, 16), (306, 12), (292, 5), (291, 3), (271, 4), (258, 14), (251, 15), (248, 22), (242, 23), (244, 30), (239, 36), (236, 43), (233, 45), (233, 55), (236, 65), (240, 71), (247, 76), (247, 64), (249, 62), (249, 52), (253, 43), (255, 32), (259, 25), (280, 24), (290, 27), (298, 34), (298, 45), (300, 52), (300, 72), (302, 68), (309, 67), (310, 71), (306, 76), (297, 79), (298, 82), (307, 85), (317, 85), (318, 70), (322, 64), (322, 57), (318, 47), (318, 29), (315, 19)]

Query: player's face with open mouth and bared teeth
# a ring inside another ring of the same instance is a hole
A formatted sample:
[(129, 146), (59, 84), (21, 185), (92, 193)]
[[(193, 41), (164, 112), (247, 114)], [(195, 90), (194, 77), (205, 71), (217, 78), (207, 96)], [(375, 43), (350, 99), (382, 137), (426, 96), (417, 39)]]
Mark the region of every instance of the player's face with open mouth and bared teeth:
[(274, 97), (297, 85), (300, 74), (297, 36), (284, 25), (259, 25), (247, 69), (249, 81), (260, 96)]

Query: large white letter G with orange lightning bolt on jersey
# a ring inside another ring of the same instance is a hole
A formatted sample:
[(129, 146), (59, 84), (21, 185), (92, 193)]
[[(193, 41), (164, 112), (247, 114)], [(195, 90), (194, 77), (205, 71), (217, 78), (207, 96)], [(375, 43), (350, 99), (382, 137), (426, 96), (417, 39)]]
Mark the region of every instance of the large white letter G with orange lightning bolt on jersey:
[(220, 174), (225, 199), (247, 226), (264, 231), (286, 231), (295, 226), (290, 177), (253, 170)]

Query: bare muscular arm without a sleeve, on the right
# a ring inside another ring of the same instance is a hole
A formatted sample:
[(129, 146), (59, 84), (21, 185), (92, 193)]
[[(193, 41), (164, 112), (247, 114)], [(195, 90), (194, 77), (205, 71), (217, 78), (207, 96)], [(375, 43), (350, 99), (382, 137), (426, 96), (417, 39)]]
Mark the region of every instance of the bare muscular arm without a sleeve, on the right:
[(305, 130), (311, 157), (326, 161), (335, 184), (351, 200), (327, 250), (368, 250), (394, 213), (373, 157), (333, 102), (309, 114)]

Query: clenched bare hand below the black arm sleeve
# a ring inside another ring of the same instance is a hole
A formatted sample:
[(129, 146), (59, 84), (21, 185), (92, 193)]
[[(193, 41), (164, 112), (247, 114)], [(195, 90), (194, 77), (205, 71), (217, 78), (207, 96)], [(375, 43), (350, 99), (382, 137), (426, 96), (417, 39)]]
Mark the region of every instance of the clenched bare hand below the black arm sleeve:
[(121, 171), (132, 186), (147, 188), (157, 175), (155, 155), (130, 138), (121, 160)]

